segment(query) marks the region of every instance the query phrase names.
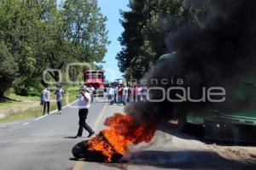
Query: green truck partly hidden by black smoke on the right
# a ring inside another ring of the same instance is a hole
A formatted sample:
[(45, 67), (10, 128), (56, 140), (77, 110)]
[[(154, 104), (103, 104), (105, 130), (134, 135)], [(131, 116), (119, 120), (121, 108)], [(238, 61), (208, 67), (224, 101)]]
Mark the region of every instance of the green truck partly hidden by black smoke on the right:
[[(156, 65), (165, 62), (174, 54), (160, 57)], [(253, 75), (239, 75), (230, 79), (226, 100), (212, 103), (204, 109), (192, 109), (179, 116), (177, 112), (172, 119), (177, 120), (178, 127), (202, 127), (205, 139), (255, 142), (256, 141), (256, 81)]]

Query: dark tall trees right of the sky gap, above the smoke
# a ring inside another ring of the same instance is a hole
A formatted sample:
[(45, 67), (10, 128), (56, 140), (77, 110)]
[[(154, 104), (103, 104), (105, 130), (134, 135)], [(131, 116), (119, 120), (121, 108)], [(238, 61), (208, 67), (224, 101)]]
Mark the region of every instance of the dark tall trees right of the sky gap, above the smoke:
[[(195, 1), (194, 1), (195, 2)], [(207, 1), (131, 0), (129, 11), (121, 11), (125, 31), (117, 54), (119, 70), (125, 78), (140, 79), (160, 55), (170, 53), (166, 37), (183, 26), (203, 26), (211, 14)]]

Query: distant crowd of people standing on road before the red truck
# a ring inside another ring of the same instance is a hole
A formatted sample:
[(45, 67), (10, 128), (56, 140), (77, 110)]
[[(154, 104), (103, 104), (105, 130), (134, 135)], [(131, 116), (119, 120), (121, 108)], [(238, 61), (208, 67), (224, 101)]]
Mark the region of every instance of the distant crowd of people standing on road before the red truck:
[(147, 87), (145, 86), (133, 86), (128, 87), (126, 85), (118, 85), (117, 87), (110, 87), (107, 89), (108, 101), (111, 105), (116, 103), (117, 105), (127, 105), (127, 103), (133, 101), (146, 101), (147, 100)]

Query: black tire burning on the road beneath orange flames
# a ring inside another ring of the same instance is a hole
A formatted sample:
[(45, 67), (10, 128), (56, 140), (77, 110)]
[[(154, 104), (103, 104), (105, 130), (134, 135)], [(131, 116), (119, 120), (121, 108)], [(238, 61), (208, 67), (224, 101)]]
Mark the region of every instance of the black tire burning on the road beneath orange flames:
[[(101, 152), (96, 150), (90, 150), (88, 141), (85, 140), (76, 144), (72, 149), (73, 156), (77, 159), (84, 159), (85, 161), (96, 161), (96, 162), (103, 162), (108, 161), (108, 157), (102, 155)], [(115, 154), (112, 157), (112, 162), (117, 162), (122, 157), (120, 154)]]

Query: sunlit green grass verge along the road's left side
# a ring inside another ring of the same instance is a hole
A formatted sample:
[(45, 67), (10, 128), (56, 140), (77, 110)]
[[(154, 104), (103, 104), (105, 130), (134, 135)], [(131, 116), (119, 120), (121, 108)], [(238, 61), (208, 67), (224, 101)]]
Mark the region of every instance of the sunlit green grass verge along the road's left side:
[[(76, 100), (76, 96), (78, 95), (78, 90), (76, 89), (72, 89), (71, 91), (67, 92), (67, 94), (65, 94), (62, 105), (65, 106), (68, 103), (73, 102), (74, 100)], [(67, 101), (67, 97), (68, 97), (68, 101)], [(0, 103), (0, 110), (5, 108), (12, 108), (12, 107), (19, 107), (19, 106), (23, 106), (23, 105), (29, 105), (29, 102), (37, 102), (38, 105), (32, 108), (29, 108), (25, 111), (13, 111), (10, 112), (9, 115), (0, 118), (0, 122), (14, 122), (14, 121), (20, 121), (20, 120), (24, 120), (27, 118), (32, 118), (32, 117), (38, 117), (38, 116), (42, 116), (43, 114), (43, 106), (39, 105), (39, 97), (23, 97), (23, 96), (17, 96), (15, 94), (10, 94), (9, 95), (10, 99), (15, 99), (15, 100), (9, 100), (7, 102), (3, 102)], [(50, 111), (55, 111), (57, 108), (56, 102), (55, 102), (55, 95), (54, 93), (52, 93), (52, 102), (50, 102), (50, 106), (49, 109)]]

